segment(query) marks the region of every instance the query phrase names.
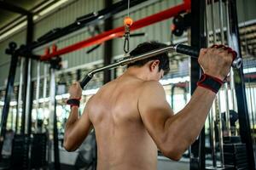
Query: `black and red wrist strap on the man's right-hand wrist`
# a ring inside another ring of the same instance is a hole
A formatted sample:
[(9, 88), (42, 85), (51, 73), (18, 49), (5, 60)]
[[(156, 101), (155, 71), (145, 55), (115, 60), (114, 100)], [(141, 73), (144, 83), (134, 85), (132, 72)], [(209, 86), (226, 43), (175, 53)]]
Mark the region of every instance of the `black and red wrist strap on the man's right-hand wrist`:
[(199, 81), (197, 82), (197, 86), (207, 88), (215, 94), (217, 94), (219, 88), (221, 88), (223, 83), (224, 82), (217, 77), (212, 77), (210, 75), (203, 74), (201, 75)]

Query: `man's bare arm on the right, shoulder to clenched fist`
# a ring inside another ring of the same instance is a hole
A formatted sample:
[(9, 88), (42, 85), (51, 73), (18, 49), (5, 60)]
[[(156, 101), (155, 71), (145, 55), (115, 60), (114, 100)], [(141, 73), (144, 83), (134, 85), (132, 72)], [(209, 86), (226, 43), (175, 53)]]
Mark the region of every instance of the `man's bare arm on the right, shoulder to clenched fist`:
[[(217, 48), (201, 50), (199, 58), (205, 73), (222, 80), (230, 71), (231, 61), (231, 54)], [(158, 148), (165, 156), (179, 160), (201, 132), (215, 96), (211, 90), (198, 87), (189, 104), (173, 115), (160, 83), (145, 82), (138, 99), (138, 110)]]

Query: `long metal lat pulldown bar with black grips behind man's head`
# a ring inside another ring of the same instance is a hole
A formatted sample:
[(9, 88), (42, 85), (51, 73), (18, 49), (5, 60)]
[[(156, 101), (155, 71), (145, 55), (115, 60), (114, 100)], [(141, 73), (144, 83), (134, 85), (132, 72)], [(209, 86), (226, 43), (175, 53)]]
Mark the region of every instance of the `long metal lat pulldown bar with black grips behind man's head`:
[[(81, 86), (81, 88), (84, 88), (84, 86), (88, 82), (90, 82), (90, 79), (97, 72), (113, 69), (113, 68), (116, 68), (116, 67), (119, 67), (119, 66), (128, 65), (128, 64), (136, 62), (138, 60), (147, 59), (149, 57), (154, 57), (155, 55), (163, 54), (163, 53), (166, 53), (166, 52), (177, 52), (179, 54), (187, 54), (187, 55), (190, 55), (191, 58), (193, 58), (193, 59), (198, 59), (200, 49), (194, 48), (194, 47), (191, 47), (191, 46), (187, 46), (187, 45), (183, 45), (183, 44), (177, 44), (177, 45), (170, 45), (166, 48), (160, 48), (160, 49), (157, 49), (157, 50), (154, 50), (154, 51), (150, 51), (150, 52), (145, 53), (145, 54), (140, 54), (140, 55), (132, 56), (132, 57), (125, 57), (123, 59), (119, 59), (116, 63), (113, 63), (111, 65), (102, 66), (100, 68), (97, 68), (97, 69), (94, 69), (94, 70), (90, 71), (86, 75), (86, 77), (84, 77), (82, 82), (80, 82), (80, 86)], [(241, 67), (241, 58), (236, 58), (232, 63), (232, 67), (239, 69)]]

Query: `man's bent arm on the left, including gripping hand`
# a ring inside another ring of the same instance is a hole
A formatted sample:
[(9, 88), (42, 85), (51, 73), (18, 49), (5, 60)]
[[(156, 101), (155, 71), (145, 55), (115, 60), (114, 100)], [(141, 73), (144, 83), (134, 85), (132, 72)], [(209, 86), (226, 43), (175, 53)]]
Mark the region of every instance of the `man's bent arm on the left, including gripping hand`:
[[(70, 99), (79, 99), (82, 95), (82, 89), (79, 82), (73, 83), (69, 89)], [(89, 105), (90, 101), (87, 103)], [(82, 116), (79, 117), (79, 107), (73, 106), (67, 119), (65, 134), (64, 134), (64, 148), (67, 151), (77, 150), (80, 144), (90, 133), (92, 126), (89, 119), (88, 107), (85, 106)]]

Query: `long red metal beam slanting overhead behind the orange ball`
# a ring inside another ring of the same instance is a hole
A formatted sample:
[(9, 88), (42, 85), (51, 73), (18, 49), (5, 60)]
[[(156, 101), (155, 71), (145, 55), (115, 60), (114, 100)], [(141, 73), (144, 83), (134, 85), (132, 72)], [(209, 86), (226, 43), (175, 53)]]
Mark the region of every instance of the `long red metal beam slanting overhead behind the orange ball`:
[[(160, 22), (162, 20), (169, 19), (177, 14), (186, 12), (189, 9), (190, 9), (190, 0), (183, 0), (182, 4), (179, 4), (172, 8), (168, 8), (164, 11), (161, 11), (160, 13), (150, 15), (141, 20), (135, 21), (131, 26), (131, 31), (135, 31), (144, 26), (149, 26), (154, 23)], [(85, 48), (85, 47), (89, 47), (91, 45), (100, 44), (102, 42), (106, 42), (115, 37), (121, 37), (124, 35), (124, 32), (125, 32), (125, 27), (120, 26), (113, 30), (102, 32), (101, 34), (97, 35), (96, 37), (90, 37), (89, 39), (86, 39), (82, 42), (77, 42), (77, 43), (74, 43), (73, 45), (67, 46), (66, 48), (61, 48), (51, 54), (44, 54), (40, 57), (40, 59), (48, 60), (55, 56), (58, 56), (61, 54), (67, 54), (67, 53), (73, 52), (75, 50), (78, 50), (80, 48)]]

